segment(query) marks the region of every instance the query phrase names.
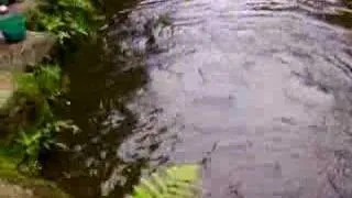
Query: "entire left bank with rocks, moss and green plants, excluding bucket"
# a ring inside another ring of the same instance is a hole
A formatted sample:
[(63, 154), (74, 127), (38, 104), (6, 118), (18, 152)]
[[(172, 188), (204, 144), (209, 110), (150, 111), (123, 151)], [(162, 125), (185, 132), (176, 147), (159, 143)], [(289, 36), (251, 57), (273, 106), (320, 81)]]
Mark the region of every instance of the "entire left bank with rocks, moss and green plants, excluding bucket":
[(25, 0), (10, 10), (26, 15), (26, 40), (0, 44), (0, 197), (65, 198), (38, 176), (42, 153), (58, 132), (76, 132), (54, 109), (69, 82), (58, 51), (92, 36), (98, 15), (89, 0)]

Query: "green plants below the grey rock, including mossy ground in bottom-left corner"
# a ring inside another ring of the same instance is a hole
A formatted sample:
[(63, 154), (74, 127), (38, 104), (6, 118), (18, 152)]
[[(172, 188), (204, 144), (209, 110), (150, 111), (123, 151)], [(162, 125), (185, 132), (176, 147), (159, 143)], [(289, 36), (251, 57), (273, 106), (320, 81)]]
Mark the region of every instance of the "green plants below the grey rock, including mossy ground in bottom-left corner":
[(1, 114), (0, 178), (1, 184), (13, 184), (33, 190), (35, 197), (68, 198), (54, 184), (28, 176), (37, 176), (41, 151), (59, 145), (57, 132), (69, 128), (59, 121), (52, 109), (51, 100), (61, 95), (61, 69), (56, 65), (36, 66), (33, 73), (15, 75), (16, 90)]

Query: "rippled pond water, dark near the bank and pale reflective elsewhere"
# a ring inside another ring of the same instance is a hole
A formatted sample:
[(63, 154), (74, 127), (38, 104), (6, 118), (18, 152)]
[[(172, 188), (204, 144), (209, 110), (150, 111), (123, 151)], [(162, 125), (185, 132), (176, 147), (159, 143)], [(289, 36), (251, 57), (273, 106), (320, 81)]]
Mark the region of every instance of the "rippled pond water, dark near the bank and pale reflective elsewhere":
[[(43, 174), (123, 197), (147, 170), (204, 162), (204, 197), (352, 197), (352, 34), (339, 1), (106, 2), (66, 66), (81, 128)], [(113, 14), (114, 13), (114, 14)]]

